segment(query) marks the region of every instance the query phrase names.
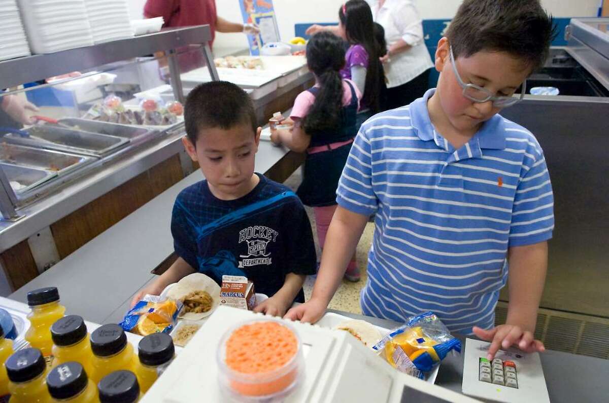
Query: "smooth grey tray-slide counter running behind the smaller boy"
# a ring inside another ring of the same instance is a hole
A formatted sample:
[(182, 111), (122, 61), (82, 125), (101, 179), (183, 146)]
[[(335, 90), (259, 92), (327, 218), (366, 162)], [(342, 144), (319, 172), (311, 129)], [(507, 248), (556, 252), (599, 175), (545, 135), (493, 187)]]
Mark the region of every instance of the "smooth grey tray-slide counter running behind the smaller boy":
[[(283, 147), (262, 141), (256, 172), (267, 172), (287, 153)], [(174, 251), (170, 225), (175, 197), (202, 179), (200, 170), (192, 173), (9, 298), (25, 302), (28, 291), (57, 286), (68, 314), (96, 323), (120, 321), (132, 296), (154, 277), (150, 271)]]

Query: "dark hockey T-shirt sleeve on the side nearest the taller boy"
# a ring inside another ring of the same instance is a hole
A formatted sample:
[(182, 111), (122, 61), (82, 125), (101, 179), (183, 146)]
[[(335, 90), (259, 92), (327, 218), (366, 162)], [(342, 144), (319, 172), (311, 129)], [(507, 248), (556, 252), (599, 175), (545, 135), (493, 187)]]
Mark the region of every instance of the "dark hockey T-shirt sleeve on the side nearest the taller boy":
[(311, 222), (300, 199), (294, 196), (293, 204), (287, 205), (283, 231), (286, 237), (286, 254), (284, 255), (285, 274), (314, 275), (317, 273), (317, 253), (313, 241)]

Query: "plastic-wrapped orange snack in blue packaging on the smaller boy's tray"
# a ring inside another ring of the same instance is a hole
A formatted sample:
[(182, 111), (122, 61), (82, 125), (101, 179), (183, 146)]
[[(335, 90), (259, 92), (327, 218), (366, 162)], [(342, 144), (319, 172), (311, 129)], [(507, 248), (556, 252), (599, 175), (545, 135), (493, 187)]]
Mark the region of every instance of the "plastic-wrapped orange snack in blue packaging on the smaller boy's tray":
[(183, 304), (176, 300), (159, 301), (158, 296), (146, 295), (127, 312), (121, 327), (135, 334), (147, 336), (153, 333), (169, 333), (182, 310)]

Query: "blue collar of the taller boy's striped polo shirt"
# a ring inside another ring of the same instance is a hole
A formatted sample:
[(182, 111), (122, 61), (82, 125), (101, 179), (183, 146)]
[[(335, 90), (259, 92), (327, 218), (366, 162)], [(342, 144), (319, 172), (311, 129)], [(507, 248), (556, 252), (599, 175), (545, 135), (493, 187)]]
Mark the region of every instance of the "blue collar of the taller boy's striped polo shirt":
[[(436, 140), (434, 125), (431, 123), (427, 108), (427, 102), (434, 93), (435, 88), (428, 89), (423, 97), (410, 103), (410, 124), (418, 138), (423, 141)], [(484, 122), (472, 140), (476, 141), (481, 149), (505, 149), (505, 122), (503, 117), (496, 114)]]

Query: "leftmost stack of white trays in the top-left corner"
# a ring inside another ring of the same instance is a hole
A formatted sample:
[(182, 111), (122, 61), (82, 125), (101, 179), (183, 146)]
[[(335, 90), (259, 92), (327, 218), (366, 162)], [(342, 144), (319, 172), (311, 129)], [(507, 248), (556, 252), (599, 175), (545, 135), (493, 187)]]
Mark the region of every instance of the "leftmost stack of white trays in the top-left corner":
[(0, 0), (0, 60), (29, 55), (30, 47), (15, 0)]

